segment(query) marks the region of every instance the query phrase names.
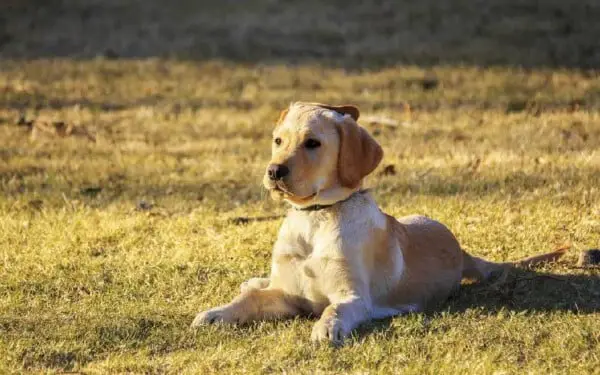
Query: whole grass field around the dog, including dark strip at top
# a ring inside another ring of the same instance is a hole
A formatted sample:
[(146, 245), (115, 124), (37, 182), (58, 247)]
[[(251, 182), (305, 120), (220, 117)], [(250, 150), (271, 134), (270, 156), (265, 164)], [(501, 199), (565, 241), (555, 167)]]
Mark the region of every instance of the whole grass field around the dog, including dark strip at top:
[[(600, 271), (575, 267), (600, 246), (600, 6), (365, 4), (0, 4), (0, 373), (600, 371)], [(269, 272), (295, 100), (393, 120), (362, 122), (386, 212), (496, 261), (570, 252), (338, 349), (308, 319), (190, 331)]]

